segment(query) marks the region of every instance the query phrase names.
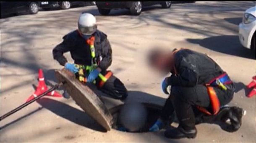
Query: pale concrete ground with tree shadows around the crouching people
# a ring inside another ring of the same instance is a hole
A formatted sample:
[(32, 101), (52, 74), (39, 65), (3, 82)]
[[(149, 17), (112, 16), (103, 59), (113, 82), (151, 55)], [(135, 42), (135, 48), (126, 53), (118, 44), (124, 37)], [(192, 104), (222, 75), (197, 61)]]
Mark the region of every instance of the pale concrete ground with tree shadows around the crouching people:
[[(155, 45), (188, 48), (211, 56), (236, 84), (230, 105), (243, 107), (241, 128), (235, 133), (219, 125), (197, 125), (195, 139), (170, 140), (157, 133), (124, 133), (102, 128), (72, 99), (47, 97), (0, 122), (1, 142), (256, 142), (256, 96), (245, 97), (246, 84), (255, 75), (255, 59), (238, 40), (238, 24), (253, 2), (196, 2), (173, 4), (170, 9), (146, 8), (141, 15), (113, 10), (101, 16), (96, 6), (69, 10), (39, 11), (37, 15), (3, 18), (1, 23), (0, 115), (25, 102), (37, 84), (37, 71), (44, 70), (48, 85), (54, 84), (53, 47), (76, 29), (81, 12), (96, 15), (98, 28), (107, 33), (113, 49), (110, 69), (130, 91), (130, 100), (163, 105), (167, 95), (160, 89), (163, 77), (145, 63)], [(71, 58), (68, 54), (69, 61)]]

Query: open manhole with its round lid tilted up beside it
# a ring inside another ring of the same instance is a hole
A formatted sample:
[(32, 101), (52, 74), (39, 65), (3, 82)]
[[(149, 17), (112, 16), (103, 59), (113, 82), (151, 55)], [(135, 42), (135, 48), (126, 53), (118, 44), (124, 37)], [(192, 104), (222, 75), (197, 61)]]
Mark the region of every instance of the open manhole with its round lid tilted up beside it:
[[(107, 131), (111, 129), (120, 129), (123, 128), (119, 123), (118, 118), (120, 110), (124, 106), (115, 105), (110, 108), (106, 107), (106, 104), (99, 99), (99, 97), (92, 91), (87, 85), (81, 84), (73, 73), (66, 69), (56, 70), (55, 71), (57, 80), (63, 82), (63, 87), (68, 92), (68, 94), (73, 98), (78, 106), (80, 106), (89, 116), (97, 121), (103, 128)], [(127, 105), (128, 103), (125, 103)], [(141, 104), (141, 103), (139, 103)], [(132, 132), (148, 132), (149, 128), (156, 122), (160, 116), (161, 106), (142, 103), (144, 109), (147, 111), (147, 114), (143, 116), (144, 124), (138, 130)], [(133, 110), (133, 111), (136, 111)], [(133, 112), (130, 112), (131, 114)], [(130, 114), (129, 114), (130, 115)], [(128, 121), (129, 122), (129, 121)]]

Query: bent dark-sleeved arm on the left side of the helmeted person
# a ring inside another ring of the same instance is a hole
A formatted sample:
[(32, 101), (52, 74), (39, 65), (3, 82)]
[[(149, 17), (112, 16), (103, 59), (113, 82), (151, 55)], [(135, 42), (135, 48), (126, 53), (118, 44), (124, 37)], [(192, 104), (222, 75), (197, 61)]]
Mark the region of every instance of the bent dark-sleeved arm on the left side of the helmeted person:
[(65, 66), (68, 62), (63, 54), (71, 50), (72, 42), (71, 36), (65, 35), (63, 41), (52, 50), (53, 59), (57, 60), (62, 66)]

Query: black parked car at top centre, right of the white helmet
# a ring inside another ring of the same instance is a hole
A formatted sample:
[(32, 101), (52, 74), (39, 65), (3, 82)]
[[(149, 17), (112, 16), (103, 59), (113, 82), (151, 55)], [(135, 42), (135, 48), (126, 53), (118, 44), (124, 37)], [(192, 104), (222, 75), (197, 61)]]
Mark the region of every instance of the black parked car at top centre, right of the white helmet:
[(108, 15), (112, 9), (128, 9), (130, 10), (132, 15), (140, 15), (142, 8), (146, 6), (162, 5), (162, 8), (170, 8), (172, 5), (171, 1), (141, 1), (141, 2), (134, 2), (134, 1), (101, 1), (96, 2), (98, 7), (99, 13), (101, 15)]

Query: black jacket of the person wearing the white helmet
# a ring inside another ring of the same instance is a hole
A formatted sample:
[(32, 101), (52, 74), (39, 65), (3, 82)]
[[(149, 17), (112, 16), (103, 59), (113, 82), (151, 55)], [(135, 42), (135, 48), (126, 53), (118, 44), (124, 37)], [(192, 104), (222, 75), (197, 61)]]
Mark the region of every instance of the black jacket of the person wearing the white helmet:
[[(112, 63), (112, 49), (107, 35), (101, 31), (94, 34), (96, 61), (99, 62), (99, 68), (106, 70)], [(53, 50), (53, 58), (61, 65), (65, 65), (67, 59), (63, 56), (65, 52), (70, 52), (75, 64), (91, 65), (91, 50), (89, 44), (80, 36), (77, 30), (68, 33), (63, 37), (63, 42), (58, 44)]]

